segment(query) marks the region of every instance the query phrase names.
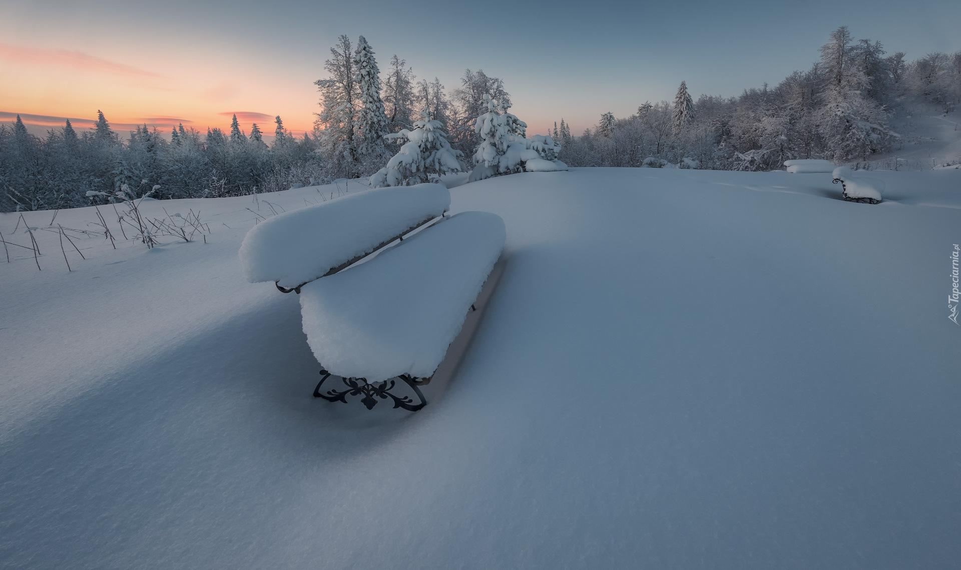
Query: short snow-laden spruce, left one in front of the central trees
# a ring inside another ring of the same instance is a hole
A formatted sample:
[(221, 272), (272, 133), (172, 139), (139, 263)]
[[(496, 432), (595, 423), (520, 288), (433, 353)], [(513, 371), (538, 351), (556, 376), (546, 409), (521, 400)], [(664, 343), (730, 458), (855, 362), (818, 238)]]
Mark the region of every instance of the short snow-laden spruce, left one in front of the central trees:
[(414, 122), (413, 131), (404, 129), (387, 138), (407, 141), (400, 152), (387, 165), (370, 178), (375, 188), (382, 186), (409, 186), (439, 178), (441, 175), (463, 172), (460, 151), (451, 148), (440, 121), (431, 119), (427, 107), (421, 111), (421, 120)]

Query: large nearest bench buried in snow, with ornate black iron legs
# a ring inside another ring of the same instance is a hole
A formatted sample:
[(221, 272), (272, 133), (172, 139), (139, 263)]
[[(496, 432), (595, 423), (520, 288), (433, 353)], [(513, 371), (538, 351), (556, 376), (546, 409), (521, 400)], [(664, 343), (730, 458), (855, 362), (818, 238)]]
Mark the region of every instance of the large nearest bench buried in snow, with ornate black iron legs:
[[(405, 193), (407, 200), (395, 200)], [(379, 188), (282, 214), (248, 232), (240, 248), (248, 279), (300, 294), (304, 332), (323, 367), (314, 396), (346, 403), (346, 396), (362, 395), (368, 409), (378, 398), (410, 411), (427, 404), (418, 386), (445, 362), (506, 235), (504, 221), (488, 212), (445, 218), (449, 203), (438, 184)], [(438, 221), (406, 235), (425, 218)], [(350, 239), (333, 238), (348, 233)], [(343, 389), (322, 390), (331, 376)], [(420, 401), (392, 393), (397, 379)]]

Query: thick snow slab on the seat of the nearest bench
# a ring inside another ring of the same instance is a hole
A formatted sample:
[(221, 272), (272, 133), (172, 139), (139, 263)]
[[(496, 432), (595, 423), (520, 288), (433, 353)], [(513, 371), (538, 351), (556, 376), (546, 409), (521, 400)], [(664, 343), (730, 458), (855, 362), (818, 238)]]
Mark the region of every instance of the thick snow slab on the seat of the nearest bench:
[(500, 216), (461, 212), (301, 290), (304, 332), (331, 373), (431, 376), (504, 249)]

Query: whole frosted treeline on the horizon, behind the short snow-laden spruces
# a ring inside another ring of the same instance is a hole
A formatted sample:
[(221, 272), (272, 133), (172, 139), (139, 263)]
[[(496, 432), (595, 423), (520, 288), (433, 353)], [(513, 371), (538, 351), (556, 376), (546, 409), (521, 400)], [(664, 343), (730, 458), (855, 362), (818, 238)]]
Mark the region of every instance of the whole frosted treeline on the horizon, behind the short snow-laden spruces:
[[(223, 197), (369, 176), (397, 149), (384, 135), (411, 129), (425, 108), (451, 146), (471, 156), (480, 143), (474, 121), (487, 111), (484, 96), (509, 106), (504, 82), (482, 70), (466, 70), (448, 92), (436, 78), (418, 81), (396, 55), (381, 74), (362, 37), (355, 51), (340, 36), (331, 55), (329, 77), (315, 82), (321, 110), (313, 131), (294, 137), (277, 117), (270, 145), (259, 126), (247, 132), (235, 116), (230, 132), (180, 126), (169, 141), (146, 126), (121, 140), (100, 111), (95, 127), (82, 132), (69, 121), (44, 137), (28, 133), (19, 117), (12, 127), (0, 125), (0, 211), (84, 206), (124, 188), (158, 199)], [(361, 92), (359, 73), (374, 74), (364, 84), (375, 85), (375, 93)], [(376, 129), (364, 124), (372, 97), (382, 100), (385, 115)], [(580, 136), (561, 119), (548, 134), (570, 166), (772, 170), (790, 158), (869, 160), (898, 144), (889, 127), (897, 113), (918, 104), (949, 113), (959, 101), (961, 52), (907, 61), (900, 52), (888, 56), (880, 42), (854, 41), (841, 27), (818, 62), (774, 88), (694, 101), (681, 83), (673, 103), (645, 102), (627, 118), (604, 113)]]

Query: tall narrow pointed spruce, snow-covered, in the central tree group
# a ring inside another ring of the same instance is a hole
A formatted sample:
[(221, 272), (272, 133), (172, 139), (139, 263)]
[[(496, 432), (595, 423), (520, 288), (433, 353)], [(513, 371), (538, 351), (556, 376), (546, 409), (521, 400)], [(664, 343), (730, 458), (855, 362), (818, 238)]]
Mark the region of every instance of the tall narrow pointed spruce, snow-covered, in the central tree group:
[(380, 161), (387, 155), (383, 136), (387, 134), (389, 121), (381, 100), (381, 71), (377, 67), (377, 59), (374, 59), (374, 50), (364, 36), (357, 39), (354, 68), (357, 72), (354, 81), (360, 91), (357, 108), (360, 143), (357, 152), (369, 160)]

